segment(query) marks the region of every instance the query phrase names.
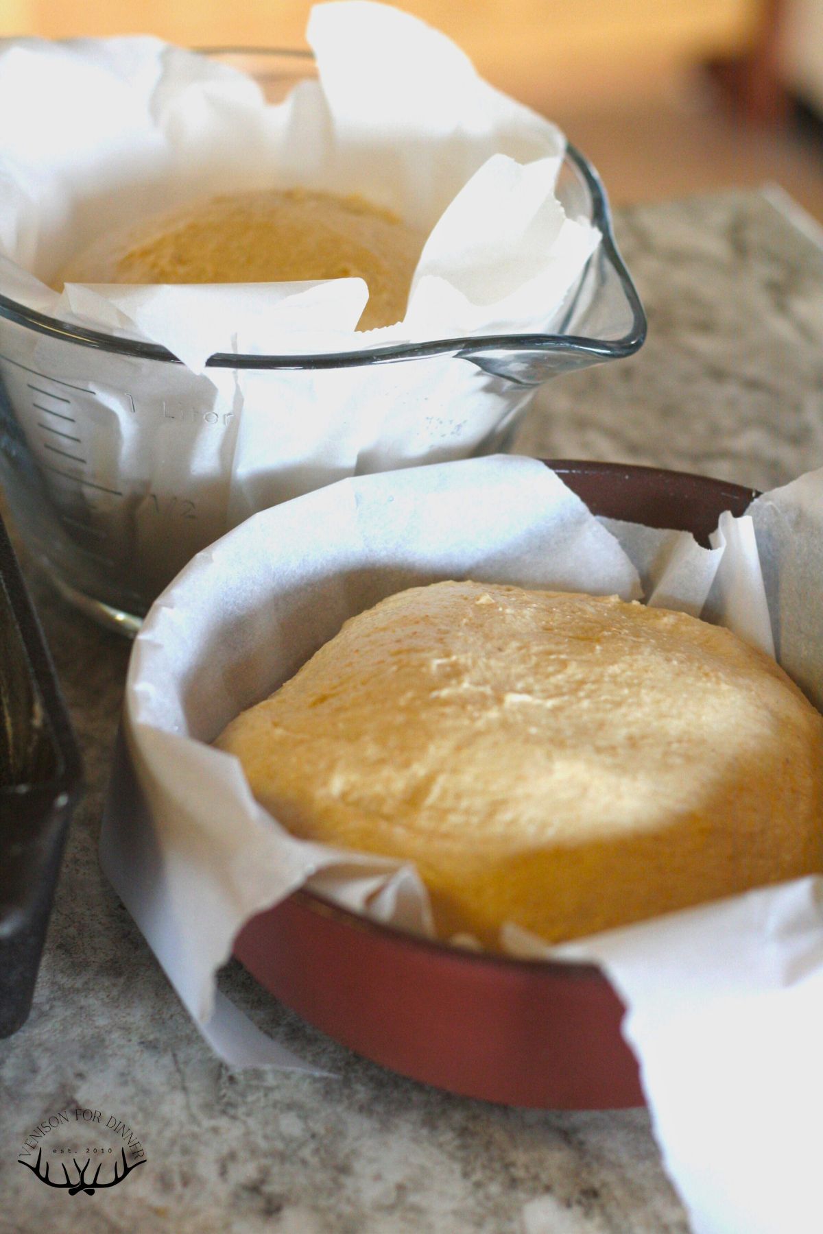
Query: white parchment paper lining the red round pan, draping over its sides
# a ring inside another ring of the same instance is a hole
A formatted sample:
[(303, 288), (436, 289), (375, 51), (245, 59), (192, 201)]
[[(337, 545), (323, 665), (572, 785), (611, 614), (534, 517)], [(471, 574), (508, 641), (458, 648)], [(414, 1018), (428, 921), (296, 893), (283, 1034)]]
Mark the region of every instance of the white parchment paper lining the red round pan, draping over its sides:
[[(153, 607), (130, 668), (126, 739), (148, 808), (116, 776), (101, 855), (222, 1058), (284, 1062), (260, 1034), (249, 1046), (239, 1013), (213, 1002), (215, 971), (255, 911), (313, 875), (349, 907), (423, 933), (431, 923), (413, 871), (289, 837), (239, 764), (204, 743), (348, 616), (454, 576), (626, 598), (642, 579), (649, 602), (679, 607), (682, 589), (690, 612), (711, 598), (742, 637), (763, 645), (774, 631), (779, 658), (821, 706), (823, 471), (721, 528), (713, 549), (682, 533), (607, 529), (542, 464), (505, 457), (342, 481), (257, 515), (191, 563)], [(505, 940), (518, 954), (595, 960), (621, 992), (697, 1234), (819, 1229), (822, 879), (549, 951), (512, 927)]]

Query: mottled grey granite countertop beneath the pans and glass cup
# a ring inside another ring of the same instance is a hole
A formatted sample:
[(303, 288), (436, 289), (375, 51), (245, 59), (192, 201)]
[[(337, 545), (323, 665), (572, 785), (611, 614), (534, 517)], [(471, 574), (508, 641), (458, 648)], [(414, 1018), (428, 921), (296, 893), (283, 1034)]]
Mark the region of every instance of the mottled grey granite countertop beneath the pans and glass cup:
[[(518, 448), (771, 487), (823, 463), (823, 251), (779, 193), (621, 212), (649, 316), (631, 360), (545, 387)], [(685, 1234), (644, 1111), (552, 1113), (450, 1097), (355, 1058), (257, 988), (222, 983), (333, 1079), (215, 1060), (96, 860), (128, 645), (38, 578), (86, 795), (27, 1024), (0, 1043), (0, 1232)], [(122, 1119), (148, 1164), (68, 1197), (16, 1161), (58, 1109)], [(707, 1112), (707, 1117), (711, 1117)]]

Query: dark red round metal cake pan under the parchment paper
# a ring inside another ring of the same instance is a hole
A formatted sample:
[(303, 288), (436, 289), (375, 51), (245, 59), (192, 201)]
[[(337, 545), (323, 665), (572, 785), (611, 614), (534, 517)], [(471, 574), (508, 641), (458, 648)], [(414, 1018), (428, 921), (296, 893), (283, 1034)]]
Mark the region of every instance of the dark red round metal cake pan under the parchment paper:
[[(745, 511), (751, 489), (612, 463), (552, 460), (596, 515), (691, 531)], [(307, 890), (253, 917), (234, 955), (276, 998), (365, 1058), (513, 1106), (644, 1103), (624, 1007), (592, 965), (478, 954), (413, 938)]]

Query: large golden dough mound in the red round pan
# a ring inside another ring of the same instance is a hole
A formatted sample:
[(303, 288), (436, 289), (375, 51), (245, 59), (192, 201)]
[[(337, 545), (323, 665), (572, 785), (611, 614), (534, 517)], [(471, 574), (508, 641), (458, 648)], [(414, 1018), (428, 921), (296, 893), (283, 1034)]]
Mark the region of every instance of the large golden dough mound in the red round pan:
[(439, 582), (217, 744), (289, 830), (416, 863), (438, 934), (555, 942), (823, 870), (823, 717), (729, 631)]

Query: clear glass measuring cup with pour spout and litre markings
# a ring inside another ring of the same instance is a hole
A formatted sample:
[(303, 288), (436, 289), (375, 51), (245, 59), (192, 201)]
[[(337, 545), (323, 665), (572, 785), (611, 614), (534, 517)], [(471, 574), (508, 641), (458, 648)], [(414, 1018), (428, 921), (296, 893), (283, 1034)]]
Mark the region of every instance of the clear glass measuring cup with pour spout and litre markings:
[[(307, 53), (212, 54), (271, 101), (313, 75)], [(36, 558), (74, 603), (133, 632), (196, 552), (257, 510), (344, 475), (503, 449), (543, 381), (645, 336), (606, 195), (571, 147), (558, 196), (603, 238), (547, 333), (215, 354), (202, 376), (157, 344), (0, 296), (0, 481)]]

